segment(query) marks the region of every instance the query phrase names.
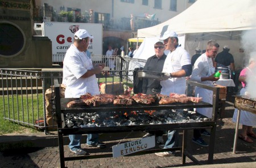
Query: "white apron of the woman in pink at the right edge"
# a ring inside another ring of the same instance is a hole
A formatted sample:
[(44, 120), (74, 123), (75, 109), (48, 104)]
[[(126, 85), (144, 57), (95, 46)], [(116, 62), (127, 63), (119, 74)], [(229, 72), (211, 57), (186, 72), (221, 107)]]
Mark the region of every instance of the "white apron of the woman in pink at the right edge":
[[(242, 88), (240, 95), (244, 95), (246, 92), (245, 88)], [(256, 114), (241, 110), (239, 123), (246, 126), (256, 126)], [(237, 122), (237, 109), (234, 110), (233, 122)]]

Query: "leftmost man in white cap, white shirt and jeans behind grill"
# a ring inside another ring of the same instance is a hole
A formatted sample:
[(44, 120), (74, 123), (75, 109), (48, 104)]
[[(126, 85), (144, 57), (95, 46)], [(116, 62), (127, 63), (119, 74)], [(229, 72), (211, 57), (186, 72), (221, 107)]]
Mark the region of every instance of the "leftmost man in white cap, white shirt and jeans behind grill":
[[(90, 36), (85, 29), (79, 29), (74, 35), (74, 43), (65, 54), (63, 61), (63, 84), (65, 84), (65, 98), (79, 98), (81, 95), (90, 93), (100, 94), (95, 74), (99, 74), (104, 64), (93, 64), (85, 50), (90, 45)], [(81, 149), (82, 135), (69, 135), (68, 145), (71, 152), (77, 155), (88, 155), (89, 153)], [(86, 144), (89, 147), (105, 148), (106, 145), (98, 140), (98, 134), (87, 135)]]

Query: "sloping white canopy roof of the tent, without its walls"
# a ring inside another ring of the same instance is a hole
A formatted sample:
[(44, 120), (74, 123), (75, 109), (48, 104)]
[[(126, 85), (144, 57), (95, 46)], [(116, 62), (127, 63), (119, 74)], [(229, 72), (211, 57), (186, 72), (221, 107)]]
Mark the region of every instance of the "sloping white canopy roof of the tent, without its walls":
[(138, 37), (160, 36), (167, 29), (177, 34), (256, 29), (256, 1), (197, 0), (170, 20), (138, 29)]

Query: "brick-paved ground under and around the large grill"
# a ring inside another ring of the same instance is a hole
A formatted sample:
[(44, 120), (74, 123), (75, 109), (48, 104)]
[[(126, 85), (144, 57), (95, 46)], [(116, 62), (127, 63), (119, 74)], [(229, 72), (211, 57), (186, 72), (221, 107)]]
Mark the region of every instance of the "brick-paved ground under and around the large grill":
[[(230, 96), (230, 95), (229, 95)], [(233, 115), (233, 98), (228, 98), (225, 105), (225, 117), (218, 119), (217, 129), (216, 129), (216, 143), (214, 149), (214, 164), (224, 164), (215, 165), (216, 167), (256, 167), (255, 162), (255, 149), (256, 140), (253, 144), (245, 143), (238, 140), (237, 144), (237, 154), (233, 154), (233, 140), (234, 140), (234, 128), (235, 124), (232, 122), (231, 118)], [(256, 132), (255, 128), (254, 131)], [(181, 132), (180, 132), (181, 133)], [(192, 137), (192, 130), (188, 131), (188, 137)], [(143, 133), (141, 133), (143, 135)], [(102, 135), (108, 136), (108, 135)], [(121, 136), (121, 135), (120, 135)], [(166, 138), (166, 137), (164, 137)], [(59, 160), (59, 148), (56, 147), (56, 135), (46, 136), (46, 135), (7, 135), (0, 136), (0, 145), (4, 142), (10, 142), (10, 146), (7, 146), (9, 150), (4, 150), (0, 152), (0, 167), (60, 167)], [(31, 139), (37, 140), (39, 145), (36, 147), (30, 147), (32, 143)], [(42, 140), (43, 139), (43, 140)], [(112, 139), (109, 137), (109, 139)], [(209, 137), (204, 137), (205, 141), (209, 142)], [(128, 139), (131, 140), (131, 139)], [(11, 145), (11, 141), (16, 141), (16, 146)], [(17, 142), (25, 143), (17, 143)], [(107, 141), (107, 148), (105, 149), (95, 149), (88, 148), (85, 144), (82, 145), (86, 148), (88, 152), (93, 154), (103, 154), (110, 153), (112, 151), (112, 146), (117, 144), (119, 141)], [(40, 145), (41, 144), (41, 145)], [(45, 144), (48, 147), (44, 147)], [(67, 144), (67, 143), (66, 143)], [(6, 145), (6, 143), (5, 143)], [(20, 148), (20, 146), (27, 148)], [(53, 147), (52, 147), (53, 146)], [(29, 148), (28, 148), (29, 147)], [(3, 147), (2, 147), (3, 148)], [(67, 145), (65, 145), (65, 156), (73, 156), (73, 153), (69, 152)], [(188, 151), (204, 164), (203, 167), (208, 167), (208, 147), (200, 147), (188, 141)], [(232, 164), (233, 163), (233, 164)], [(236, 164), (240, 163), (240, 164)], [(66, 161), (65, 166), (67, 167), (190, 167), (196, 165), (189, 158), (186, 158), (186, 164), (181, 165), (181, 152), (177, 152), (174, 157), (158, 157), (154, 153), (144, 154), (141, 156), (126, 156), (118, 158), (98, 158), (90, 160), (76, 160), (76, 161)], [(255, 166), (254, 166), (255, 165)]]

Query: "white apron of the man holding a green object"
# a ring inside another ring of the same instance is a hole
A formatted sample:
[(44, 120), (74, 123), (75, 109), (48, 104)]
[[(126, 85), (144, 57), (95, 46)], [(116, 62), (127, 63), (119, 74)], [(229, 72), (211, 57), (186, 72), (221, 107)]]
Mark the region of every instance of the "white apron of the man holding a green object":
[[(207, 74), (207, 77), (212, 75), (214, 73), (215, 68), (209, 68), (209, 72)], [(209, 85), (212, 85), (212, 81), (209, 81)], [(210, 91), (208, 89), (203, 89), (200, 87), (195, 87), (195, 96), (196, 97), (203, 97), (202, 101), (207, 102), (209, 104), (212, 104), (213, 99), (213, 91)], [(204, 115), (205, 117), (212, 118), (212, 107), (208, 108), (197, 108), (197, 113), (200, 113)]]

